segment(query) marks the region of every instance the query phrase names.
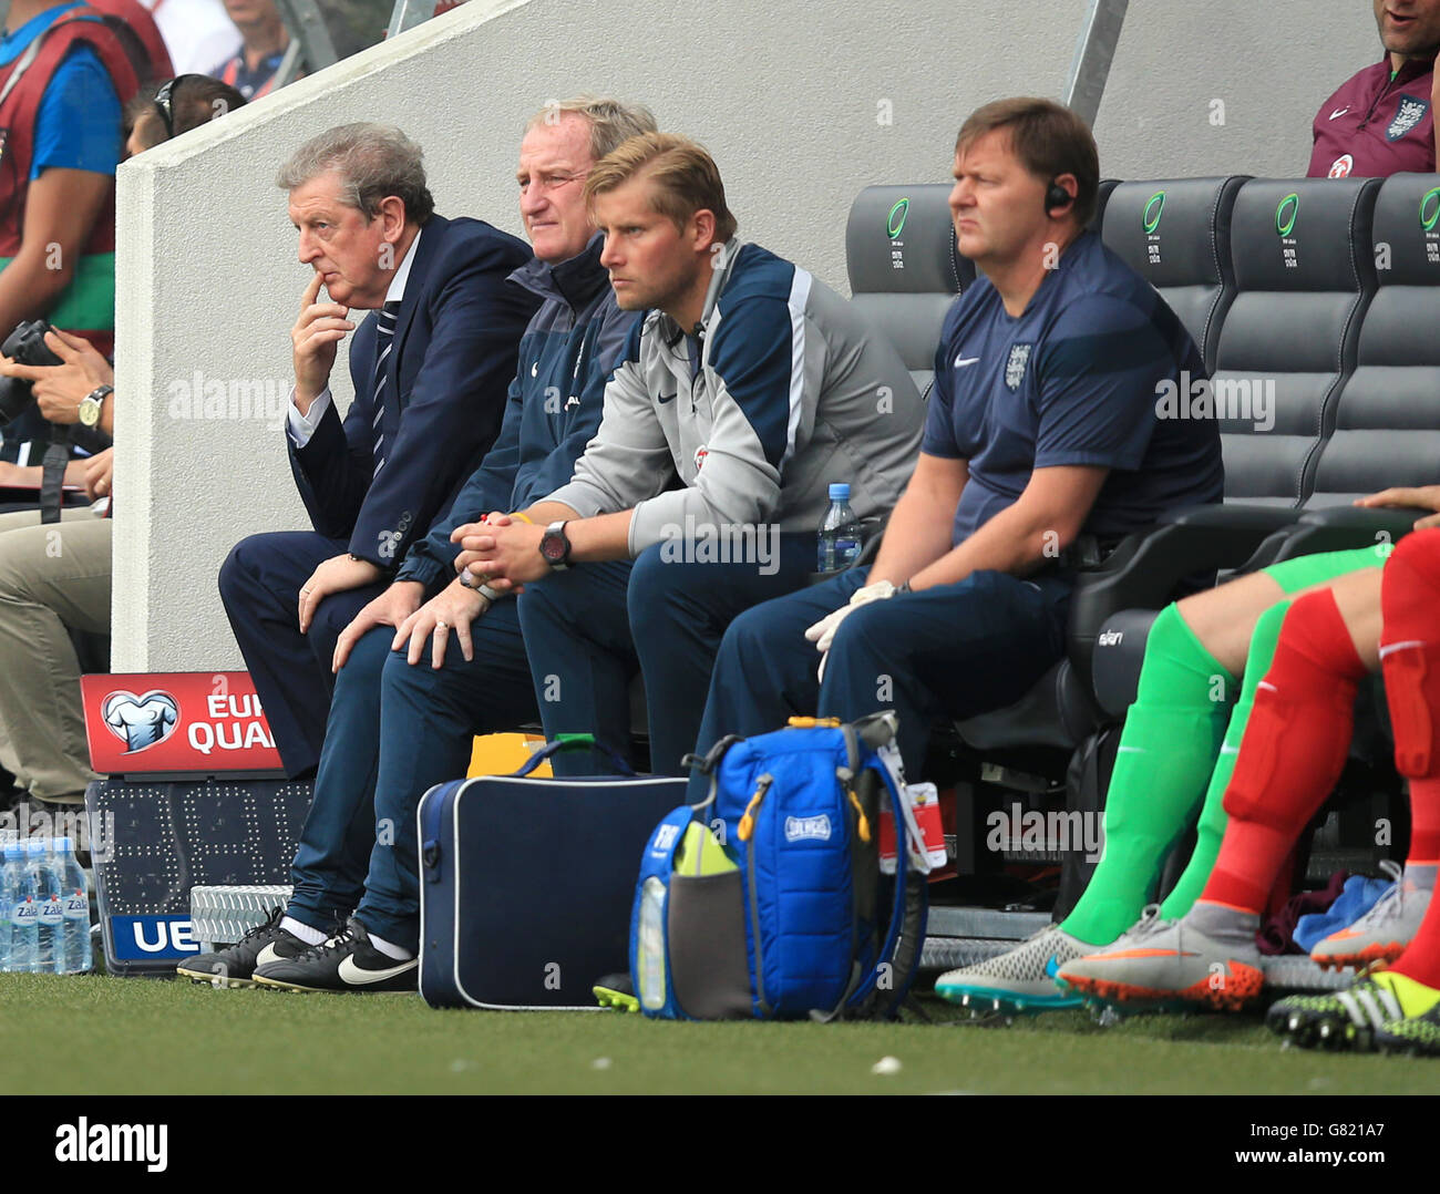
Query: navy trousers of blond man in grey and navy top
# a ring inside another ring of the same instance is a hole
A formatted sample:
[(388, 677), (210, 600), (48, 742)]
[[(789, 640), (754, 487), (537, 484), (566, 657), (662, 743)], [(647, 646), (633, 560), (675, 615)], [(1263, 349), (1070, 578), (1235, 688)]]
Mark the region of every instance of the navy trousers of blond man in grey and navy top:
[[(592, 732), (624, 750), (629, 740), (628, 681), (645, 678), (649, 763), (658, 775), (683, 775), (680, 760), (696, 745), (710, 670), (726, 627), (737, 614), (805, 585), (815, 567), (814, 534), (765, 540), (763, 559), (708, 560), (684, 543), (641, 552), (628, 578), (600, 582), (577, 565), (527, 585), (520, 596), (546, 737)], [(593, 773), (586, 756), (557, 756), (556, 773)]]

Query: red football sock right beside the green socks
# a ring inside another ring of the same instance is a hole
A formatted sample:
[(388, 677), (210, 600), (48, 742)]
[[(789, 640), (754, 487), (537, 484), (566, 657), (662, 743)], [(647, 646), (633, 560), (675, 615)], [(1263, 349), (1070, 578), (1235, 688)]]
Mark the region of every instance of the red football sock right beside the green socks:
[(1256, 690), (1202, 900), (1264, 909), (1280, 866), (1345, 766), (1364, 675), (1329, 589), (1296, 598)]

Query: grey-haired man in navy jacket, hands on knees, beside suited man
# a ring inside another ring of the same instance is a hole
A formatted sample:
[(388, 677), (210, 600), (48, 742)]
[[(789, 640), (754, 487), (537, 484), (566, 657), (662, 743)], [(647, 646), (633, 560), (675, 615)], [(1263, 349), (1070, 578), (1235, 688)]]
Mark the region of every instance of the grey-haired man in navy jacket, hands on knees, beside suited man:
[[(583, 174), (596, 150), (647, 128), (654, 122), (642, 108), (576, 101), (550, 108), (526, 134), (521, 215), (537, 256), (511, 279), (541, 305), (520, 341), (500, 436), (448, 514), (410, 547), (395, 583), (338, 638), (336, 694), (285, 916), (181, 974), (301, 989), (415, 988), (419, 798), (465, 773), (472, 735), (539, 717), (516, 602), (459, 583), (451, 531), (562, 485), (599, 426), (606, 379), (636, 317), (618, 308), (599, 264)], [(628, 565), (606, 569), (624, 583)], [(346, 930), (321, 945), (351, 913)]]

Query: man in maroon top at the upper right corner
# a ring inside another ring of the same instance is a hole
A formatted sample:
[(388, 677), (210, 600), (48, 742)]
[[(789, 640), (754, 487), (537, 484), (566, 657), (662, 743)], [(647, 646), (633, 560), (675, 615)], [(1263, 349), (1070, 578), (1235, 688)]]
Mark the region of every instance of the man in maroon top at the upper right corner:
[(1375, 0), (1385, 56), (1315, 114), (1312, 179), (1381, 179), (1436, 169), (1434, 60), (1440, 0)]

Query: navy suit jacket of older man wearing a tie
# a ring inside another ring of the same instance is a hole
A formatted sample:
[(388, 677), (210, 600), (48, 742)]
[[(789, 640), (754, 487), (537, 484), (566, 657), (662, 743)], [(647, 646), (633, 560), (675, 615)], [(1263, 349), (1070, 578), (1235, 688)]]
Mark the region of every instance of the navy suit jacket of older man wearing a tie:
[[(374, 475), (376, 313), (350, 341), (356, 398), (334, 405), (304, 448), (287, 434), (315, 530), (387, 572), (445, 511), (500, 432), (520, 337), (540, 300), (508, 281), (530, 246), (484, 220), (431, 216), (386, 357), (386, 461)], [(373, 478), (373, 480), (372, 480)]]

